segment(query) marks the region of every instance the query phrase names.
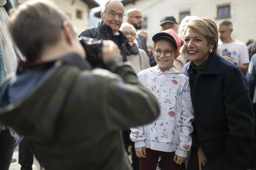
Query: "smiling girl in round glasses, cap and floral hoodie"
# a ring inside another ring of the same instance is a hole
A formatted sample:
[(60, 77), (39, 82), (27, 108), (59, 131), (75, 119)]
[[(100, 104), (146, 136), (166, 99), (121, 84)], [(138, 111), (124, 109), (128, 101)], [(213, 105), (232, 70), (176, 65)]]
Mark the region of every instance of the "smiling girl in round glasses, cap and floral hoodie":
[(150, 124), (130, 128), (130, 138), (135, 142), (140, 170), (155, 170), (161, 152), (164, 170), (180, 170), (192, 144), (194, 121), (189, 79), (173, 67), (181, 38), (169, 29), (152, 40), (157, 65), (142, 70), (138, 77), (158, 99), (161, 112)]

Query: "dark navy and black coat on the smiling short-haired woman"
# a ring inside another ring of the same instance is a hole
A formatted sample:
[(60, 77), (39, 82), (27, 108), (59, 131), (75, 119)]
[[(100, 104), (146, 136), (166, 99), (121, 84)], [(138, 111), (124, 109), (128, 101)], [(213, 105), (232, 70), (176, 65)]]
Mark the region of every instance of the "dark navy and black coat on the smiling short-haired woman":
[[(191, 154), (200, 146), (206, 166), (214, 170), (254, 167), (254, 116), (249, 84), (240, 69), (213, 53), (201, 74), (196, 75), (190, 62), (182, 73), (190, 79), (195, 113)], [(194, 155), (188, 163), (188, 168), (195, 164), (192, 170), (198, 169), (197, 152)]]

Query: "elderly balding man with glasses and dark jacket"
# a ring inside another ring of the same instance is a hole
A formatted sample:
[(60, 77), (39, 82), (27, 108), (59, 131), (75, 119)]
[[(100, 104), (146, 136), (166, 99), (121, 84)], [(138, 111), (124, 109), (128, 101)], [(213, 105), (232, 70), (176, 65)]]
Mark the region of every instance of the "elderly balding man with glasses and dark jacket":
[(98, 25), (85, 29), (79, 37), (85, 36), (103, 40), (112, 40), (120, 48), (123, 61), (127, 61), (123, 44), (125, 44), (127, 48), (131, 47), (128, 43), (129, 40), (121, 31), (119, 31), (123, 19), (125, 18), (124, 12), (125, 9), (120, 1), (107, 1), (101, 11), (101, 20)]

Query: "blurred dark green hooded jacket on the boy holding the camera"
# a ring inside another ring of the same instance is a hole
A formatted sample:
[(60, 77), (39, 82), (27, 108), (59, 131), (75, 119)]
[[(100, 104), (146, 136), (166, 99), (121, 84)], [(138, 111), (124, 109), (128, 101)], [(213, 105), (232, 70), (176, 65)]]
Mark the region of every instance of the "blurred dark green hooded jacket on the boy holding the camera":
[(74, 53), (58, 60), (19, 64), (0, 89), (0, 122), (25, 136), (47, 170), (130, 170), (121, 131), (158, 117), (154, 95), (121, 55), (105, 62), (112, 73), (88, 70)]

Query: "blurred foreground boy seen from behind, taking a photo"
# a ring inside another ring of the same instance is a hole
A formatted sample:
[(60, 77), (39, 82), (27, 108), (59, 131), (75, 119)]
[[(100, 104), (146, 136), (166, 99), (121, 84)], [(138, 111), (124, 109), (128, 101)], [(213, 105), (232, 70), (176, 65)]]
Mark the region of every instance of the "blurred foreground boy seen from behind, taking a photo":
[(19, 6), (8, 29), (26, 62), (0, 89), (1, 124), (47, 170), (130, 170), (120, 132), (153, 121), (159, 107), (118, 46), (103, 41), (108, 70), (90, 70), (64, 12), (46, 0)]

